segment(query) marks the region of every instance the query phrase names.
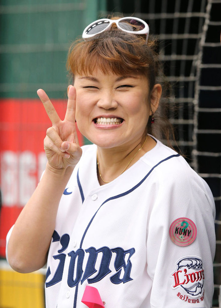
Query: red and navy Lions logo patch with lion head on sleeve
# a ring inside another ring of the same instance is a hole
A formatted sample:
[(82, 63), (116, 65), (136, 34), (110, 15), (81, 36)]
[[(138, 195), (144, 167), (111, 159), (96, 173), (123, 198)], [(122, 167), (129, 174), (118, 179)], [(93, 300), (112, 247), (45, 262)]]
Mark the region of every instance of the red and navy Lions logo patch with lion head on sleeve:
[(180, 288), (192, 298), (203, 295), (204, 270), (199, 257), (190, 256), (179, 259), (171, 277), (173, 278), (171, 286), (173, 289)]

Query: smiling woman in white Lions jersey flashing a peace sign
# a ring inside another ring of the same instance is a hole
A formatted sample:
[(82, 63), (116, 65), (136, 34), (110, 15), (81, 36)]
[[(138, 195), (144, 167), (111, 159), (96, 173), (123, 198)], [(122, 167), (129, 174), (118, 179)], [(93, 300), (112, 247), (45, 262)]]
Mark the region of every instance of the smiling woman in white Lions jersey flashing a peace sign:
[[(47, 263), (47, 307), (211, 306), (214, 203), (150, 135), (162, 88), (148, 32), (131, 17), (84, 30), (68, 55), (63, 121), (38, 90), (52, 122), (48, 163), (8, 236), (8, 260), (20, 272)], [(75, 119), (92, 145), (80, 148)]]

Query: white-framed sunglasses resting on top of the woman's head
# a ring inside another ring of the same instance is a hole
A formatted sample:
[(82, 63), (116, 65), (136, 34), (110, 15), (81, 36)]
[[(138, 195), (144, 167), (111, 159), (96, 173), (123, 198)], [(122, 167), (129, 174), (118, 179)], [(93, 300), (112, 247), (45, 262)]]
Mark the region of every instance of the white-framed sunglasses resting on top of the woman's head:
[(145, 21), (137, 17), (123, 17), (116, 20), (108, 18), (98, 19), (84, 29), (82, 38), (86, 39), (104, 32), (111, 28), (112, 24), (116, 24), (118, 29), (128, 33), (146, 34), (146, 41), (148, 40), (149, 26)]

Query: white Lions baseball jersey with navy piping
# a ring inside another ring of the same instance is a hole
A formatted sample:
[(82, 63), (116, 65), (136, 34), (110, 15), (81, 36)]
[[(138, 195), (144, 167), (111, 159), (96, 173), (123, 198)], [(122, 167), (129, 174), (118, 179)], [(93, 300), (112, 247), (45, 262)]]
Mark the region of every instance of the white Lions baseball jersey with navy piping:
[(157, 141), (100, 186), (96, 145), (82, 148), (58, 209), (46, 307), (86, 307), (86, 286), (105, 308), (210, 307), (215, 210), (204, 180)]

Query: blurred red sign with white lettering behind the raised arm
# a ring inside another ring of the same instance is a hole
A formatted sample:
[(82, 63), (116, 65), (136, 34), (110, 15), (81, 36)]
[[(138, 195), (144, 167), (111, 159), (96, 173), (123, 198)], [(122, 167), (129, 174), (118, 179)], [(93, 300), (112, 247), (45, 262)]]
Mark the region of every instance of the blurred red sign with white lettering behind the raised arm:
[[(64, 118), (66, 101), (52, 100)], [(38, 99), (0, 100), (0, 257), (6, 235), (35, 190), (46, 165), (43, 141), (50, 119)], [(83, 137), (78, 131), (80, 145)]]

